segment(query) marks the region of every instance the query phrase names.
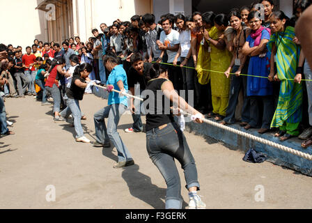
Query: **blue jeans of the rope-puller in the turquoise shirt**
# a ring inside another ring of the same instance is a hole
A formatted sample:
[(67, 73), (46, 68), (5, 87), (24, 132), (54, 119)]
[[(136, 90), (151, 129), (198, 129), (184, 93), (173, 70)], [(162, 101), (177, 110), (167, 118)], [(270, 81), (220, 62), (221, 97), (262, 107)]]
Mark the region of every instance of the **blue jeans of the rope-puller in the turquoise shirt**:
[[(125, 112), (125, 105), (114, 104), (100, 109), (94, 114), (95, 124), (95, 137), (96, 141), (100, 144), (108, 142), (109, 139), (114, 144), (118, 152), (118, 162), (130, 161), (132, 157), (125, 144), (117, 132), (117, 125), (120, 116)], [(104, 118), (107, 118), (107, 126), (105, 125)]]

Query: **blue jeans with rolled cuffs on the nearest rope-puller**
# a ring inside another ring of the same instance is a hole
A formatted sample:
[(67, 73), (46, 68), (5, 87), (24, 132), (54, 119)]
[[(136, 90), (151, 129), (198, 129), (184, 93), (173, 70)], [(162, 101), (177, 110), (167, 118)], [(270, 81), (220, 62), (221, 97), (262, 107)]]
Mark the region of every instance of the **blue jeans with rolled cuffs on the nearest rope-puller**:
[(174, 159), (184, 169), (185, 187), (197, 187), (199, 190), (196, 164), (184, 134), (176, 123), (168, 123), (162, 130), (153, 128), (146, 132), (146, 148), (166, 180), (166, 208), (182, 208), (180, 176)]

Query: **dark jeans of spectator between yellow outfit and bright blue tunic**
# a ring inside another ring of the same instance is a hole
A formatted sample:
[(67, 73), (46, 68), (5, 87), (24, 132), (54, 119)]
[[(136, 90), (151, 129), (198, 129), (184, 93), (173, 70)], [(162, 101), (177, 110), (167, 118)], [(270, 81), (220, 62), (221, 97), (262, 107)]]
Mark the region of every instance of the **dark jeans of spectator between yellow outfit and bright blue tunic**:
[[(247, 66), (244, 66), (242, 73), (247, 73)], [(236, 72), (240, 66), (234, 66), (232, 72)], [(228, 100), (228, 108), (226, 109), (226, 118), (224, 121), (228, 124), (235, 123), (235, 109), (240, 95), (240, 89), (244, 91), (244, 103), (242, 105), (242, 122), (250, 121), (250, 99), (247, 97), (247, 77), (231, 75), (230, 98)]]

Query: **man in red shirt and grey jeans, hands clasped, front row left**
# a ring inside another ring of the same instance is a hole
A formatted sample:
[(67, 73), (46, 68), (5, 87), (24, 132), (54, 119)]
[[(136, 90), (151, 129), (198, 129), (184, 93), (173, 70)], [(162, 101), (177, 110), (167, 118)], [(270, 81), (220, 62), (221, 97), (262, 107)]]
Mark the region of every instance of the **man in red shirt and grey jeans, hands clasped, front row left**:
[(24, 74), (29, 79), (28, 95), (36, 95), (35, 78), (36, 78), (36, 56), (31, 54), (31, 47), (26, 47), (26, 54), (22, 57)]

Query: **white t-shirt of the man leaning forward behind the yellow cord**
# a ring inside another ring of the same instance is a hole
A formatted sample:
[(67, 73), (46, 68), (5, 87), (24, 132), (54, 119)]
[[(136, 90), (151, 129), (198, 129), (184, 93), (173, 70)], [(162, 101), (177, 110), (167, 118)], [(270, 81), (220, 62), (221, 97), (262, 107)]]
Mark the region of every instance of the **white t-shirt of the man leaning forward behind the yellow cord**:
[[(160, 33), (160, 38), (159, 38), (160, 42), (162, 42), (164, 45), (168, 44), (168, 46), (173, 47), (176, 44), (180, 44), (180, 40), (179, 40), (179, 32), (171, 29), (171, 32), (166, 35), (166, 33), (164, 31), (162, 31), (162, 33)], [(165, 43), (166, 42), (166, 43)], [(168, 63), (172, 63), (174, 58), (176, 57), (177, 52), (173, 52), (170, 50), (166, 50), (167, 54), (168, 54)], [(178, 61), (180, 61), (180, 56), (178, 58)]]

